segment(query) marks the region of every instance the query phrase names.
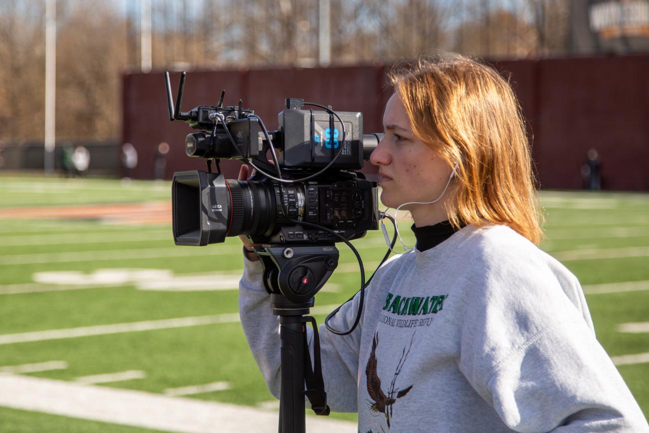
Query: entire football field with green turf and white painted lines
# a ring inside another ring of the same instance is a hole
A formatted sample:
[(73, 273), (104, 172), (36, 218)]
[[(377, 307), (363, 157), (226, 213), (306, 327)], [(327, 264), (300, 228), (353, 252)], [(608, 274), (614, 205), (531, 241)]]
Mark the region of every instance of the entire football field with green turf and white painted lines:
[[(241, 243), (175, 246), (170, 201), (169, 182), (0, 177), (0, 432), (276, 431), (238, 322)], [(580, 279), (649, 415), (649, 194), (540, 201), (541, 248)], [(382, 233), (353, 243), (371, 275)], [(318, 323), (360, 284), (338, 248)], [(354, 414), (308, 419), (308, 431), (356, 431)]]

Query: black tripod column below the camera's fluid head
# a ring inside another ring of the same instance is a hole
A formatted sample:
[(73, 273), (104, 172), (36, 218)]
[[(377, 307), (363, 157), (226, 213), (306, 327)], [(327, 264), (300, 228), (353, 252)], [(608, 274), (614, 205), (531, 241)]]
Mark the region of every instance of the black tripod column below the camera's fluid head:
[(280, 316), (282, 340), (282, 391), (280, 433), (305, 433), (304, 332), (300, 316)]

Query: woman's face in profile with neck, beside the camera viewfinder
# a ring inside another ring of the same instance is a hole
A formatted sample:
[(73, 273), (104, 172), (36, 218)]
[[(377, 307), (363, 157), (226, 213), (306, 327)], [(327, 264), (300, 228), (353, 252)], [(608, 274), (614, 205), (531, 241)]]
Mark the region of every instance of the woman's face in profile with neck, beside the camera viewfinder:
[[(385, 136), (370, 157), (370, 162), (379, 167), (381, 201), (397, 208), (410, 201), (437, 199), (444, 192), (452, 169), (413, 134), (406, 108), (397, 93), (387, 101), (383, 127)], [(434, 224), (447, 219), (443, 208), (447, 199), (445, 194), (436, 203), (409, 204), (402, 209), (410, 210), (417, 226)]]

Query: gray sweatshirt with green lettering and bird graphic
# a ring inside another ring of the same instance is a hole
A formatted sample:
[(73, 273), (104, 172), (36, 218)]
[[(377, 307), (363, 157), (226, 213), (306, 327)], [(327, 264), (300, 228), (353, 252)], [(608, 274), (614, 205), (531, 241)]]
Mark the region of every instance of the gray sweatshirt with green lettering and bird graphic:
[[(278, 319), (261, 262), (244, 261), (241, 323), (278, 397)], [(332, 325), (349, 328), (357, 307), (358, 295)], [(506, 226), (389, 260), (352, 334), (319, 329), (328, 403), (358, 411), (361, 433), (649, 432), (577, 278)]]

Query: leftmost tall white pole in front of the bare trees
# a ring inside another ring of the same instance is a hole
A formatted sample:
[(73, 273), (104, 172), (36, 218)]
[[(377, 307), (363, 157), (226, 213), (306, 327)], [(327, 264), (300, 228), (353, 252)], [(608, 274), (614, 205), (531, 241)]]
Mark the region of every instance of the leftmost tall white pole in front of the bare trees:
[(54, 172), (56, 136), (56, 0), (45, 0), (45, 174)]

